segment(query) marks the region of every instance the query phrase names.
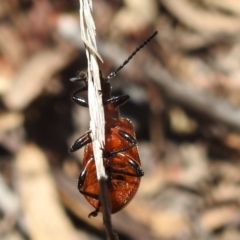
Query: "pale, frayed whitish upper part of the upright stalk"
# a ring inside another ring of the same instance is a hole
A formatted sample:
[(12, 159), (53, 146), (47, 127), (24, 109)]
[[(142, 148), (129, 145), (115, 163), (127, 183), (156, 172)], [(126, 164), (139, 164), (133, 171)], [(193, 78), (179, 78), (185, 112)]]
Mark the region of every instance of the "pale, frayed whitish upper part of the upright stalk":
[(96, 28), (92, 18), (92, 1), (80, 1), (81, 38), (86, 47), (88, 60), (88, 104), (90, 112), (90, 129), (98, 180), (106, 178), (103, 166), (102, 150), (105, 143), (105, 120), (102, 104), (101, 83), (97, 58), (101, 59), (96, 45)]

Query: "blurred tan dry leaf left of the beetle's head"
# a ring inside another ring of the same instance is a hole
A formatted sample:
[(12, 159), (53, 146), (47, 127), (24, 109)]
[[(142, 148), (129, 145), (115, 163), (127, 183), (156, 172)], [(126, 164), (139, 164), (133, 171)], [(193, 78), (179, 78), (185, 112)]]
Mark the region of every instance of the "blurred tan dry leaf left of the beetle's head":
[(34, 55), (17, 73), (12, 88), (4, 94), (5, 105), (14, 110), (24, 109), (42, 92), (52, 75), (74, 56), (72, 48), (46, 49)]

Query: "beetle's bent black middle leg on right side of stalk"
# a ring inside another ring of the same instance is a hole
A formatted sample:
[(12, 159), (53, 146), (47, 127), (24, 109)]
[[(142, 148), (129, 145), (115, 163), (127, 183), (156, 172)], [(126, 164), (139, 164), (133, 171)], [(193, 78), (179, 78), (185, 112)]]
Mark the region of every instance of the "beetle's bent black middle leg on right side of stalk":
[(111, 150), (111, 151), (103, 151), (103, 156), (105, 158), (111, 157), (116, 153), (125, 152), (125, 151), (133, 148), (134, 146), (136, 146), (137, 140), (132, 135), (130, 135), (129, 133), (122, 131), (122, 130), (118, 130), (118, 134), (122, 138), (124, 138), (127, 142), (129, 142), (130, 145), (127, 147), (120, 148), (120, 149), (115, 149), (115, 150)]

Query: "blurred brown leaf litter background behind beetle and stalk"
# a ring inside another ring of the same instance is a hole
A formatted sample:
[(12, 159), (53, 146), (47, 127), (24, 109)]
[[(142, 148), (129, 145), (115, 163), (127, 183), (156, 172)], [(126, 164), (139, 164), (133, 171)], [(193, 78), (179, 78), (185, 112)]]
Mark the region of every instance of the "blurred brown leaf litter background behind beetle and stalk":
[[(121, 240), (240, 239), (240, 3), (95, 0), (104, 76), (129, 94), (145, 176), (113, 215)], [(0, 1), (0, 239), (106, 239), (78, 192), (89, 127), (77, 0)]]

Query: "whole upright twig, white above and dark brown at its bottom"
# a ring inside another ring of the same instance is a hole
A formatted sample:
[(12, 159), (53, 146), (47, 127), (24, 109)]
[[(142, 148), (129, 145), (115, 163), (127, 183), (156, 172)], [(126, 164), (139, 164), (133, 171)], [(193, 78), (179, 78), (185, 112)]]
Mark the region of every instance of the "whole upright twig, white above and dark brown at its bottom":
[(118, 240), (111, 223), (111, 209), (107, 189), (107, 175), (103, 165), (103, 152), (105, 143), (105, 119), (101, 96), (101, 81), (97, 58), (98, 54), (95, 40), (95, 24), (92, 18), (92, 1), (80, 0), (80, 28), (81, 38), (85, 44), (88, 59), (88, 104), (90, 112), (90, 129), (93, 144), (93, 153), (96, 164), (97, 179), (100, 185), (100, 203), (103, 213), (103, 223), (109, 240)]

